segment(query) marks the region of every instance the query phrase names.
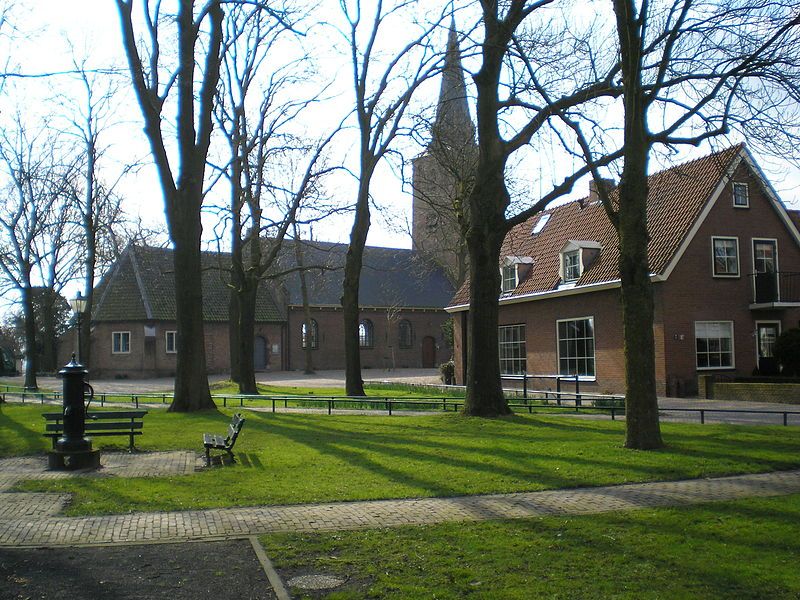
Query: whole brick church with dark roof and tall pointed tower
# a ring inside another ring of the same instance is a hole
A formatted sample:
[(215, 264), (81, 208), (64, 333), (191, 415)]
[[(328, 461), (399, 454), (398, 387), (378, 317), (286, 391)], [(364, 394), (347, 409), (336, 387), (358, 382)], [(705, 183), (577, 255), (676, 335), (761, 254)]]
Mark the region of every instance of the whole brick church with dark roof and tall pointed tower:
[[(474, 127), (456, 34), (450, 31), (445, 68), (431, 126), (432, 141), (413, 161), (412, 249), (368, 246), (360, 280), (362, 368), (434, 368), (452, 358), (444, 308), (466, 275), (451, 198), (466, 189), (474, 158)], [(448, 152), (457, 160), (444, 160)], [(457, 168), (456, 168), (457, 167)], [(462, 192), (463, 193), (463, 192)], [(296, 249), (295, 245), (300, 248)], [(296, 251), (299, 250), (299, 251)], [(297, 270), (265, 279), (259, 289), (253, 364), (256, 371), (302, 370), (306, 345), (315, 369), (343, 369), (340, 305), (347, 245), (286, 240), (282, 271), (307, 269), (311, 330), (306, 331)], [(228, 274), (230, 255), (205, 252), (203, 314), (209, 373), (230, 370)], [(316, 268), (315, 268), (316, 267)], [(147, 378), (175, 372), (177, 345), (172, 251), (131, 245), (95, 289), (91, 315), (94, 377)], [(66, 352), (74, 344), (63, 344)], [(65, 352), (62, 352), (64, 354)], [(68, 354), (68, 352), (66, 352)]]

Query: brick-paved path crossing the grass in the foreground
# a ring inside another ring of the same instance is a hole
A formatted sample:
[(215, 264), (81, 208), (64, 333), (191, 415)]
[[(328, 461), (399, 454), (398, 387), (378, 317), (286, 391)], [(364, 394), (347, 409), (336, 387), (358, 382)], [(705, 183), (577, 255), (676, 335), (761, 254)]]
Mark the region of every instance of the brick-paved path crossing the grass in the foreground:
[[(196, 462), (191, 459), (192, 453), (154, 454), (172, 455), (147, 459), (151, 464), (161, 464), (164, 470), (182, 468), (184, 472), (188, 472), (195, 468)], [(197, 457), (194, 458), (196, 460)], [(5, 462), (0, 461), (0, 469)], [(168, 468), (164, 465), (168, 465)], [(136, 469), (131, 467), (131, 472), (136, 472)], [(150, 474), (153, 474), (152, 471)], [(4, 493), (0, 494), (0, 546), (180, 541), (241, 537), (277, 531), (357, 529), (446, 521), (591, 514), (793, 493), (800, 493), (800, 470), (457, 498), (224, 508), (102, 517), (56, 516), (55, 513), (67, 500), (63, 496)], [(45, 500), (42, 496), (49, 499)]]

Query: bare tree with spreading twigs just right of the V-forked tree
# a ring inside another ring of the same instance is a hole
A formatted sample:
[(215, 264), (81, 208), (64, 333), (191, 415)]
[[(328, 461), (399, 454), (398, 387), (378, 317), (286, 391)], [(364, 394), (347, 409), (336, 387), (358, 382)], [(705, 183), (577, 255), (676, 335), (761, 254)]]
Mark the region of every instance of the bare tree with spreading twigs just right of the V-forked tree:
[(265, 64), (285, 49), (286, 23), (298, 18), (242, 6), (232, 8), (225, 21), (216, 115), (229, 148), (231, 376), (246, 394), (258, 393), (253, 353), (261, 282), (274, 277), (273, 264), (301, 203), (331, 171), (321, 158), (335, 130), (312, 144), (292, 132), (319, 95), (301, 93), (311, 75), (308, 57)]

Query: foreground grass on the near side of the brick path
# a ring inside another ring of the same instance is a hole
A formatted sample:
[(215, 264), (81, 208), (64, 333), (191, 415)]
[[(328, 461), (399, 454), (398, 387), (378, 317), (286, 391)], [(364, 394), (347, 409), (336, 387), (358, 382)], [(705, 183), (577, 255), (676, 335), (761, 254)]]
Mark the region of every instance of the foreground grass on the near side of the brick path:
[(329, 600), (800, 597), (800, 495), (262, 542), (284, 579), (346, 579)]

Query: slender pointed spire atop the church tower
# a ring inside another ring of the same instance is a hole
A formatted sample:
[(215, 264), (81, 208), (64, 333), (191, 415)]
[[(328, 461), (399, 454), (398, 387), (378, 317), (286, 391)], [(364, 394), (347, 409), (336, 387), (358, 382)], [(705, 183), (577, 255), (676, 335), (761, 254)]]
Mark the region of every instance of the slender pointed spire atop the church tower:
[(461, 66), (455, 18), (450, 21), (447, 50), (442, 69), (442, 87), (431, 131), (431, 147), (463, 149), (475, 142), (475, 126), (469, 116), (467, 86)]

